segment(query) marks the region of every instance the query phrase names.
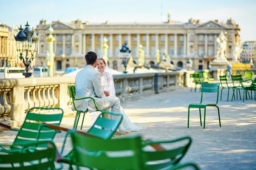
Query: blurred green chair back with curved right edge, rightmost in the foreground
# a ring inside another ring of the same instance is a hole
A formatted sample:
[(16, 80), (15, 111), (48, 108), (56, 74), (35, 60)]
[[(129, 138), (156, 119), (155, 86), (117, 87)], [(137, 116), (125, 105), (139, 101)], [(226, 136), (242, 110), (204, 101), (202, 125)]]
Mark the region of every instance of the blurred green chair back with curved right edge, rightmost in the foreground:
[[(185, 141), (186, 143), (184, 144)], [(192, 139), (190, 137), (183, 137), (179, 139), (175, 139), (172, 141), (158, 141), (158, 142), (148, 142), (145, 146), (149, 144), (169, 144), (171, 149), (165, 148), (165, 150), (150, 150), (143, 151), (143, 161), (145, 162), (145, 170), (159, 170), (166, 169), (166, 167), (173, 166), (177, 164), (180, 159), (186, 154)], [(176, 144), (180, 142), (180, 144)], [(174, 144), (175, 143), (175, 144)], [(167, 145), (168, 146), (168, 145)], [(172, 169), (172, 168), (170, 168)]]

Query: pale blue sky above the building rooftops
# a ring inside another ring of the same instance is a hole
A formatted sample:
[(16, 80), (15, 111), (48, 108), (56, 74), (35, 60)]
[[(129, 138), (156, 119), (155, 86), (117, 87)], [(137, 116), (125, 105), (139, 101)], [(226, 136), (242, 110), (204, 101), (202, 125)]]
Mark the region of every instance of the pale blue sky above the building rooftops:
[(256, 41), (256, 0), (0, 0), (0, 21), (16, 26), (26, 21), (36, 27), (41, 19), (47, 23), (74, 20), (92, 23), (161, 22), (171, 20), (188, 22), (189, 18), (219, 20), (232, 18), (241, 28), (244, 41)]

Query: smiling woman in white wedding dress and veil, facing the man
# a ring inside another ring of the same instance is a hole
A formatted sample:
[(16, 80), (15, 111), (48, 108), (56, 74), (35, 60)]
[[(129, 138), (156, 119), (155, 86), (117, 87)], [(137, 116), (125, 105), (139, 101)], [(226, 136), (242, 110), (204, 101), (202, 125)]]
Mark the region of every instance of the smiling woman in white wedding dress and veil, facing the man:
[[(111, 73), (111, 69), (106, 65), (104, 59), (99, 58), (97, 67), (99, 72), (101, 72), (101, 85), (104, 91), (108, 91), (110, 96), (116, 96), (115, 86), (113, 81), (113, 75)], [(118, 129), (121, 132), (136, 132), (141, 129), (145, 129), (146, 127), (141, 125), (135, 125), (130, 121), (128, 116), (125, 114), (124, 109), (121, 106), (121, 114), (123, 116), (122, 122), (119, 125)]]

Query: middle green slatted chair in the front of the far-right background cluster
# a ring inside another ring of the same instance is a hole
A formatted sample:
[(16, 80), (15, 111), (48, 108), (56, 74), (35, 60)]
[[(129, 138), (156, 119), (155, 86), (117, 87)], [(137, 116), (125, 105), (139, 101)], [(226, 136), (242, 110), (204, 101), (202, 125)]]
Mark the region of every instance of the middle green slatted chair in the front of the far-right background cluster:
[[(231, 102), (233, 101), (233, 97), (235, 99), (235, 92), (236, 92), (236, 98), (238, 99), (238, 91), (239, 91), (239, 97), (240, 97), (240, 100), (241, 100), (241, 93), (240, 93), (240, 90), (244, 90), (245, 93), (246, 93), (246, 99), (247, 99), (247, 93), (249, 95), (249, 98), (250, 98), (250, 94), (249, 92), (247, 91), (247, 87), (249, 86), (244, 86), (242, 85), (243, 82), (247, 82), (247, 81), (244, 81), (243, 78), (242, 78), (242, 75), (236, 75), (236, 76), (233, 76), (231, 75), (231, 79), (232, 79), (232, 82), (233, 82), (233, 96), (232, 96), (232, 99), (231, 99)], [(239, 85), (235, 85), (235, 83), (239, 83)]]

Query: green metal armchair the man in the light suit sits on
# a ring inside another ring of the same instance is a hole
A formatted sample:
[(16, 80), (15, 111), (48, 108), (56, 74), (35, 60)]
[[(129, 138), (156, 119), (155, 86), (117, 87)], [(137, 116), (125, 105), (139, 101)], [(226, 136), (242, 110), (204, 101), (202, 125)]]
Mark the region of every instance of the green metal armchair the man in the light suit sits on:
[[(83, 98), (76, 99), (76, 88), (75, 88), (75, 86), (69, 86), (67, 89), (68, 89), (69, 96), (70, 96), (70, 98), (72, 99), (74, 109), (76, 110), (76, 117), (75, 117), (75, 121), (74, 121), (74, 124), (73, 124), (73, 130), (76, 130), (76, 129), (77, 129), (77, 126), (78, 126), (80, 114), (81, 114), (81, 113), (84, 113), (84, 116), (85, 116), (85, 113), (87, 113), (88, 110), (86, 110), (86, 111), (78, 110), (78, 109), (76, 108), (76, 105), (75, 105), (75, 102), (74, 102), (74, 101), (77, 101), (77, 100), (84, 100), (84, 99), (92, 99), (92, 100), (93, 100), (93, 103), (94, 103), (94, 105), (95, 105), (96, 111), (100, 111), (100, 112), (102, 112), (102, 111), (98, 109), (98, 107), (97, 107), (97, 105), (96, 105), (96, 102), (95, 102), (95, 99), (93, 99), (92, 97), (83, 97)], [(83, 116), (83, 119), (82, 119), (82, 124), (81, 124), (80, 130), (82, 130), (82, 128), (83, 128), (84, 116)], [(104, 116), (104, 115), (102, 115), (102, 116)]]

